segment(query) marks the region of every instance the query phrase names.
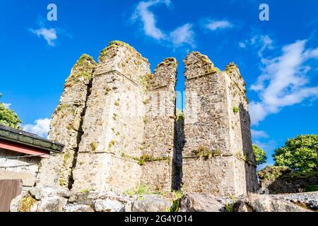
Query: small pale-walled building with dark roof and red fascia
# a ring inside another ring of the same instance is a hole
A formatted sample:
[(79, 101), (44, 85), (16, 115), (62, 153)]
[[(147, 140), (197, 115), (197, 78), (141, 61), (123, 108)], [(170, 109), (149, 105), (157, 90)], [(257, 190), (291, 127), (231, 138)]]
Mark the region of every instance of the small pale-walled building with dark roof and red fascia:
[(0, 125), (0, 182), (22, 179), (23, 190), (30, 189), (35, 185), (41, 159), (61, 153), (63, 148), (33, 133)]

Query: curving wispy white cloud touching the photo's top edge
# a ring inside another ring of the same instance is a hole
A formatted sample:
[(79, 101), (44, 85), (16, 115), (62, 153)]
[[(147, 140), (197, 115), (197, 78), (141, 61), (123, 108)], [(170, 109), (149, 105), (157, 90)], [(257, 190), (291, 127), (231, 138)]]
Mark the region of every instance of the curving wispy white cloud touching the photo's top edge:
[(139, 18), (143, 23), (143, 31), (146, 35), (153, 37), (155, 40), (164, 40), (166, 35), (156, 26), (155, 14), (149, 10), (151, 6), (157, 4), (170, 5), (170, 0), (152, 0), (152, 1), (141, 1), (136, 6), (133, 20)]

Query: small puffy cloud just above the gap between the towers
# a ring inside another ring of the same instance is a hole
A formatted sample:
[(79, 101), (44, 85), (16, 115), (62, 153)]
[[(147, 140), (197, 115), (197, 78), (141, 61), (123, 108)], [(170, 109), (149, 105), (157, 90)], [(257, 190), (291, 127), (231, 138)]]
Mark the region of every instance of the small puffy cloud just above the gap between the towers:
[(192, 47), (195, 47), (194, 32), (192, 30), (192, 25), (189, 23), (172, 31), (170, 33), (170, 39), (175, 47), (180, 47), (183, 44), (189, 44)]

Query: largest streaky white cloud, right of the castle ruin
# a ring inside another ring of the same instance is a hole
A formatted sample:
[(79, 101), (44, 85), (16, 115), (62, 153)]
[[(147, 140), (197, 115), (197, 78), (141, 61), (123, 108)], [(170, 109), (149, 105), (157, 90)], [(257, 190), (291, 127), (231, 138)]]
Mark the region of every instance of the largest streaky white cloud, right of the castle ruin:
[[(310, 66), (305, 65), (309, 59), (318, 59), (318, 47), (306, 49), (306, 42), (307, 40), (300, 40), (285, 45), (281, 56), (261, 58), (262, 74), (251, 86), (260, 97), (259, 102), (249, 104), (252, 124), (259, 124), (269, 114), (275, 114), (283, 107), (318, 96), (318, 87), (308, 86), (310, 81), (307, 72), (310, 71)], [(262, 51), (270, 46), (271, 42), (265, 40)]]

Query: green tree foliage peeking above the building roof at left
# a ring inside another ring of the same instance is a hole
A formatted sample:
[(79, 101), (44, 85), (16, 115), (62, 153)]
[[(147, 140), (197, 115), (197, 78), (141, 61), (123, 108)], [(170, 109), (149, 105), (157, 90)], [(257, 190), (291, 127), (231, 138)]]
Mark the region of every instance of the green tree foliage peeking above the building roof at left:
[[(1, 96), (2, 93), (0, 93), (0, 97)], [(4, 104), (0, 102), (0, 124), (14, 129), (22, 129), (20, 123), (22, 123), (22, 121), (18, 117), (18, 114), (12, 109), (6, 108)]]

